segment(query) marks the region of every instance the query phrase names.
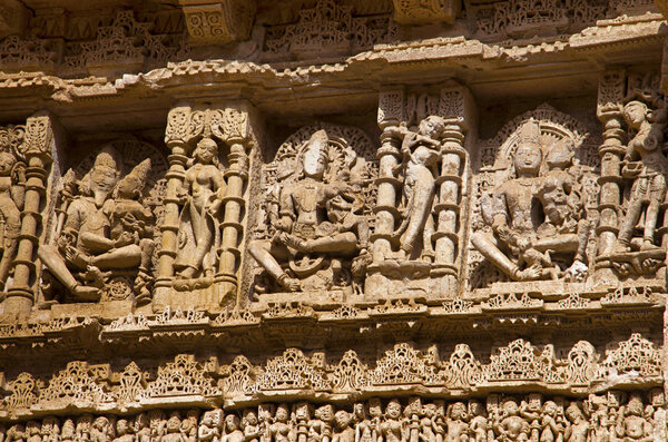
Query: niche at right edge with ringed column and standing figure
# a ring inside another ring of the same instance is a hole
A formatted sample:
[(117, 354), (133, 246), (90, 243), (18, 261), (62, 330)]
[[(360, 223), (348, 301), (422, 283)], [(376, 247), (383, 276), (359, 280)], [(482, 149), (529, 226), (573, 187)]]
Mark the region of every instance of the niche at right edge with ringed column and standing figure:
[[(615, 183), (621, 198), (610, 204), (611, 198), (601, 194), (601, 208), (617, 212), (616, 219), (606, 218), (609, 223), (605, 229), (616, 238), (599, 245), (597, 266), (611, 267), (620, 279), (664, 278), (665, 273), (661, 268), (666, 265), (668, 243), (668, 107), (659, 84), (660, 78), (652, 73), (629, 76), (626, 95), (617, 97), (619, 109), (603, 118), (622, 128), (621, 137), (610, 134), (610, 138), (623, 139), (621, 145), (606, 144), (601, 148), (603, 161), (617, 160), (621, 166), (616, 170), (608, 168), (615, 174), (603, 181), (608, 186)], [(617, 85), (623, 90), (623, 76)]]

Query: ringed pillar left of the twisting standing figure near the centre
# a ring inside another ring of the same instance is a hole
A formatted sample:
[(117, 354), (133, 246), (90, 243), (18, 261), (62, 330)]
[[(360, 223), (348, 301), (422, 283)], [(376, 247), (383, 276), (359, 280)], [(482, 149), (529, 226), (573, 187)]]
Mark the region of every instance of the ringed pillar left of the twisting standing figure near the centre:
[(381, 263), (392, 253), (391, 237), (395, 220), (400, 214), (396, 209), (396, 189), (401, 180), (395, 177), (394, 167), (401, 158), (401, 140), (392, 135), (392, 128), (399, 126), (404, 118), (404, 94), (401, 89), (381, 92), (379, 102), (379, 126), (383, 129), (382, 146), (379, 149), (379, 186), (375, 207), (376, 222), (373, 239), (373, 262)]

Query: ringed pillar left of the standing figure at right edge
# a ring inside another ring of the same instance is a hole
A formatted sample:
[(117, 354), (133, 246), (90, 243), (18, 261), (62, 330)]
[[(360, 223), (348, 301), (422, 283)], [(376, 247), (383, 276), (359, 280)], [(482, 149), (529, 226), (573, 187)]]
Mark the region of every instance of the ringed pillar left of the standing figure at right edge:
[[(599, 147), (601, 157), (601, 176), (599, 178), (600, 219), (597, 227), (598, 252), (605, 255), (617, 239), (619, 232), (619, 207), (621, 203), (621, 158), (625, 154), (622, 139), (622, 100), (626, 87), (623, 71), (609, 71), (601, 77), (599, 82), (597, 116), (603, 124), (603, 143)], [(599, 282), (613, 282), (616, 276), (609, 262), (597, 262), (596, 278)]]

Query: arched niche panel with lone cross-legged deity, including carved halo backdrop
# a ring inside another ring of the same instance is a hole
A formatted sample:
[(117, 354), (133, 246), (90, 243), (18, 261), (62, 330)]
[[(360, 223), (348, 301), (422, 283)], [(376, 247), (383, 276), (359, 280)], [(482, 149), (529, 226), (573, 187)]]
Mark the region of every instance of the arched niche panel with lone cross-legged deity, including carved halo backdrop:
[(304, 127), (279, 147), (263, 170), (267, 202), (249, 245), (268, 276), (256, 289), (360, 289), (370, 261), (373, 158), (360, 129), (332, 125)]

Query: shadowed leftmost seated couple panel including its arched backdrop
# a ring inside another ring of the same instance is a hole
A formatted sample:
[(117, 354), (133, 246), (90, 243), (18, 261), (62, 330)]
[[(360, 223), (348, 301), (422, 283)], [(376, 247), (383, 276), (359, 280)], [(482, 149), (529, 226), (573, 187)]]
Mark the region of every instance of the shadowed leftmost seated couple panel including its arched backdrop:
[(65, 175), (53, 239), (38, 249), (47, 303), (150, 302), (165, 169), (157, 149), (132, 139), (106, 145)]

